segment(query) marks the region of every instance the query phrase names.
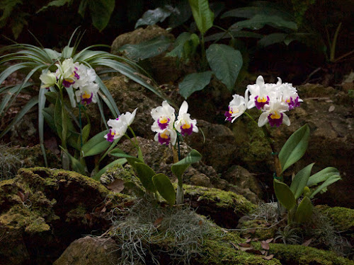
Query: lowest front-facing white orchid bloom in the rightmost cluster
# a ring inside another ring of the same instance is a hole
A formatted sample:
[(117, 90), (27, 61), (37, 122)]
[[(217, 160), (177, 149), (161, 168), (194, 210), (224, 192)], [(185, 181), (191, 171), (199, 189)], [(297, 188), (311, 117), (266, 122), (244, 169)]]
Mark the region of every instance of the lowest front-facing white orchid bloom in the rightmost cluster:
[(261, 127), (267, 122), (269, 122), (270, 126), (279, 127), (281, 124), (290, 125), (290, 119), (287, 117), (286, 112), (289, 110), (289, 105), (282, 101), (272, 101), (270, 105), (264, 105), (264, 112), (259, 116), (258, 126)]

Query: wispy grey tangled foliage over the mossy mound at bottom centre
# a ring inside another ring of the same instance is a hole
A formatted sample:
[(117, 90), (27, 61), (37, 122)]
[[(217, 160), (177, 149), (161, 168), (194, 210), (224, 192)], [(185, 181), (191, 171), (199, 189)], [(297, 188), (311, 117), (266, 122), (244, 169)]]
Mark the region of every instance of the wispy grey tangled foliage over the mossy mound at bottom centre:
[(217, 236), (212, 223), (192, 209), (162, 208), (146, 199), (128, 209), (124, 217), (113, 215), (112, 221), (108, 234), (120, 246), (118, 264), (146, 264), (146, 259), (159, 264), (156, 254), (161, 253), (173, 264), (190, 264), (201, 254), (203, 239)]

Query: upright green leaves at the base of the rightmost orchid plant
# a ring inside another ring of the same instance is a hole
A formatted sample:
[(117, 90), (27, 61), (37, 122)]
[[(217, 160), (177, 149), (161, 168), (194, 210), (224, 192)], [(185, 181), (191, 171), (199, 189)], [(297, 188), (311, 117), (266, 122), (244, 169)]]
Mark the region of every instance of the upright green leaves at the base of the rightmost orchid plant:
[[(304, 125), (297, 129), (287, 139), (279, 153), (281, 172), (296, 163), (304, 155), (309, 141), (309, 126)], [(290, 187), (284, 182), (274, 179), (274, 191), (278, 201), (287, 209), (288, 225), (292, 222), (304, 223), (312, 216), (311, 199), (319, 192), (326, 192), (327, 187), (341, 179), (335, 167), (326, 167), (324, 170), (311, 175), (314, 163), (307, 165), (297, 172)], [(282, 179), (282, 177), (280, 177)], [(297, 203), (300, 199), (301, 201)]]

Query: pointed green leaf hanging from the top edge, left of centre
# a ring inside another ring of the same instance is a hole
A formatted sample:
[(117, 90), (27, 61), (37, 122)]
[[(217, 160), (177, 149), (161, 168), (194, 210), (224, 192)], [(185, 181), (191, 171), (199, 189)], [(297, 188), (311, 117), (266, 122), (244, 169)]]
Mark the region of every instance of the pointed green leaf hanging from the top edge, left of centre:
[(103, 30), (110, 20), (115, 7), (115, 0), (95, 0), (88, 2), (92, 23), (98, 30)]

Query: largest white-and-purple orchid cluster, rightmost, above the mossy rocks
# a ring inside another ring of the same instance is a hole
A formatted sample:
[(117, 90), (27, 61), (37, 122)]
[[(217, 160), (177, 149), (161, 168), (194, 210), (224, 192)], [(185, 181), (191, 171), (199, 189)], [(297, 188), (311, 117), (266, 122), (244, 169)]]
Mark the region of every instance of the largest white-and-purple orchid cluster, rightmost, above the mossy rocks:
[(297, 95), (296, 88), (291, 83), (264, 83), (263, 77), (258, 76), (256, 84), (247, 86), (245, 96), (233, 95), (229, 103), (229, 110), (225, 113), (227, 121), (234, 122), (247, 109), (256, 107), (262, 113), (258, 119), (258, 126), (269, 122), (270, 126), (290, 125), (287, 117), (288, 110), (299, 107), (302, 100)]

